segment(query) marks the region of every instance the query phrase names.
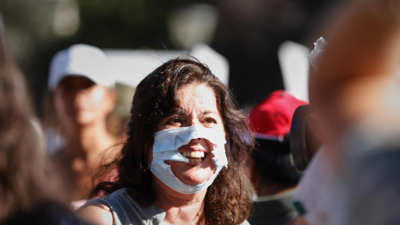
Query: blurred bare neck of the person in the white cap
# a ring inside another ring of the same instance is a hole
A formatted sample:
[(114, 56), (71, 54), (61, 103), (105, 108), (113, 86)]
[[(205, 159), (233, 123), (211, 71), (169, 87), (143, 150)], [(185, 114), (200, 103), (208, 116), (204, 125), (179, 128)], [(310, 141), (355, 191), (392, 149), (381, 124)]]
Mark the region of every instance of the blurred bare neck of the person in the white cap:
[(66, 133), (67, 146), (65, 150), (73, 157), (98, 155), (115, 142), (106, 129), (105, 122), (94, 122), (85, 125), (75, 125)]

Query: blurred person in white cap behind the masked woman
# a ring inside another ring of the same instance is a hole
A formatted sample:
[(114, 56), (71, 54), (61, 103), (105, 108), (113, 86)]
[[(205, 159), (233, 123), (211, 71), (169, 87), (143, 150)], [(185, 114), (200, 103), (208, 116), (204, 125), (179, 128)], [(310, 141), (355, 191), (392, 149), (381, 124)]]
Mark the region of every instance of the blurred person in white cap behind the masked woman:
[[(65, 143), (52, 159), (73, 201), (88, 197), (94, 169), (118, 149), (114, 146), (116, 137), (106, 127), (107, 115), (115, 104), (113, 86), (109, 62), (97, 47), (74, 44), (51, 60), (48, 89)], [(81, 203), (84, 200), (76, 206)]]

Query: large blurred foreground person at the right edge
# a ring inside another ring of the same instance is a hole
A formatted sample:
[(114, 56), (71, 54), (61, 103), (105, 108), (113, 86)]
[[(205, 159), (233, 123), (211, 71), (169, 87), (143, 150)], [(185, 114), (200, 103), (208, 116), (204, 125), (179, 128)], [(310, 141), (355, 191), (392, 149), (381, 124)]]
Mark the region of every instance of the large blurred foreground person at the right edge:
[(327, 25), (309, 82), (324, 146), (300, 181), (294, 224), (400, 224), (398, 3), (347, 1)]

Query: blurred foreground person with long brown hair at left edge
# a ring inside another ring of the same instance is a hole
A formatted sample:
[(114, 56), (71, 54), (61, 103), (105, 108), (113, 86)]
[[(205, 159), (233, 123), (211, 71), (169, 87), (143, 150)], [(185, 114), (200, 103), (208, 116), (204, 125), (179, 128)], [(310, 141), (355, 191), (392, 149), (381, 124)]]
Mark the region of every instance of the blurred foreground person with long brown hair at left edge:
[(0, 224), (86, 225), (69, 210), (58, 181), (0, 19)]

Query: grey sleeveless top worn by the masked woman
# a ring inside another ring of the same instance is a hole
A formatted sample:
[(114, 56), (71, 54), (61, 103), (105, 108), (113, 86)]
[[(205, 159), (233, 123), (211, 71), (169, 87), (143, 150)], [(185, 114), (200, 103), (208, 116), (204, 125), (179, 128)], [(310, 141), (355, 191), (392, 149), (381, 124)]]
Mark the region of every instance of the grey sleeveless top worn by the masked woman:
[[(116, 190), (101, 198), (90, 199), (86, 204), (93, 202), (108, 205), (112, 212), (113, 225), (157, 225), (165, 217), (165, 211), (162, 208), (155, 205), (144, 207), (138, 204), (126, 192), (126, 188)], [(244, 220), (240, 225), (249, 225), (249, 223)]]

